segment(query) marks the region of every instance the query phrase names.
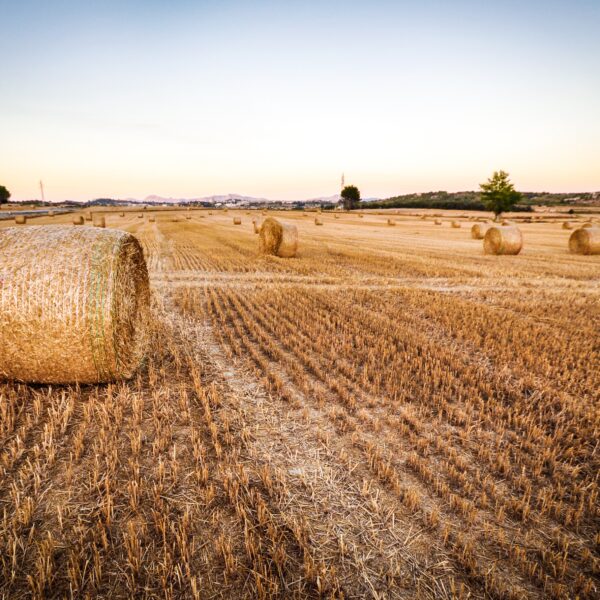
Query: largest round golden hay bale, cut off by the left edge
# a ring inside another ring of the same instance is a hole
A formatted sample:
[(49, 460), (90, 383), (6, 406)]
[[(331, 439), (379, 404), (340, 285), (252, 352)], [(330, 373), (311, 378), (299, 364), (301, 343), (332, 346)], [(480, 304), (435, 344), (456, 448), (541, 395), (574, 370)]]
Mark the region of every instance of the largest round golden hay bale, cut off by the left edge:
[(130, 377), (149, 318), (139, 242), (116, 229), (0, 231), (0, 379), (98, 383)]

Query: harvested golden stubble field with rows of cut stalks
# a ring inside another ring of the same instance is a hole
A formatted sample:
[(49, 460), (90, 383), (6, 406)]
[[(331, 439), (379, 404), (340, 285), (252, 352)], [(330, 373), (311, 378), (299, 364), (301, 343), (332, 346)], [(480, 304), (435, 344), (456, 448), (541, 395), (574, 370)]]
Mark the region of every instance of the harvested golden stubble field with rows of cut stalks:
[(241, 211), (103, 214), (153, 350), (0, 382), (0, 597), (598, 597), (600, 257), (571, 231), (493, 256), (474, 214), (269, 211), (279, 258)]

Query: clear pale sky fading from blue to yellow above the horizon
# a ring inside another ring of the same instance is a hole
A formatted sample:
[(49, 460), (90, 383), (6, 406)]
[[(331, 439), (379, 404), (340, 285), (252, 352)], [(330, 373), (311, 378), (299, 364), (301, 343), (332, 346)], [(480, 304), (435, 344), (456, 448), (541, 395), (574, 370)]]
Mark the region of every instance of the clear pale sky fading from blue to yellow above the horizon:
[(600, 0), (0, 0), (13, 199), (600, 190)]

